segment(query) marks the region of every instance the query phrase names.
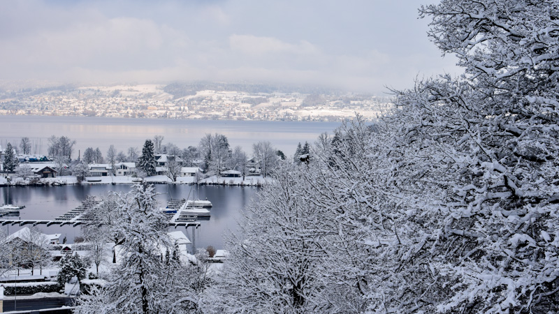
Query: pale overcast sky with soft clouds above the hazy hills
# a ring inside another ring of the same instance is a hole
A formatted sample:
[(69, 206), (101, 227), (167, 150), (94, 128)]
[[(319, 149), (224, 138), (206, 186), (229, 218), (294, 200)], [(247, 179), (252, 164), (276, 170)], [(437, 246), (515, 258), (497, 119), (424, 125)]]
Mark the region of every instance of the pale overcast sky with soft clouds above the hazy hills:
[(1, 1), (0, 80), (312, 84), (458, 73), (413, 0)]

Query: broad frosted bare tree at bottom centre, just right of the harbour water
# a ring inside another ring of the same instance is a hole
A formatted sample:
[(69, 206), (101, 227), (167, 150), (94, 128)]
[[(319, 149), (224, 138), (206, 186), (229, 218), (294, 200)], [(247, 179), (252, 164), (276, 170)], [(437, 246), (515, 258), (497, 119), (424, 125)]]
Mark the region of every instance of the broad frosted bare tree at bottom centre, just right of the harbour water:
[(329, 231), (312, 223), (321, 213), (301, 193), (302, 173), (288, 168), (282, 173), (247, 207), (238, 234), (228, 239), (230, 256), (206, 294), (206, 311), (319, 311), (315, 298), (323, 288), (319, 270), (326, 244), (321, 239)]

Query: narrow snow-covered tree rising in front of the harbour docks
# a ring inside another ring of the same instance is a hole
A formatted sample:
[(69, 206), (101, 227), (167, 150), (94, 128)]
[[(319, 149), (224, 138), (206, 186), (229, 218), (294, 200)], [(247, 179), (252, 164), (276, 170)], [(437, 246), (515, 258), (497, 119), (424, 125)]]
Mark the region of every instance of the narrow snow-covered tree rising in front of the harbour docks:
[(153, 186), (136, 184), (130, 193), (119, 195), (117, 205), (114, 227), (122, 237), (122, 262), (106, 278), (108, 284), (85, 297), (76, 313), (187, 313), (177, 310), (196, 304), (196, 299), (184, 285), (184, 268), (163, 258), (173, 245)]

